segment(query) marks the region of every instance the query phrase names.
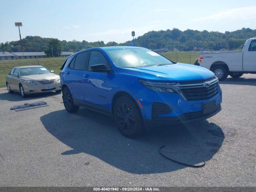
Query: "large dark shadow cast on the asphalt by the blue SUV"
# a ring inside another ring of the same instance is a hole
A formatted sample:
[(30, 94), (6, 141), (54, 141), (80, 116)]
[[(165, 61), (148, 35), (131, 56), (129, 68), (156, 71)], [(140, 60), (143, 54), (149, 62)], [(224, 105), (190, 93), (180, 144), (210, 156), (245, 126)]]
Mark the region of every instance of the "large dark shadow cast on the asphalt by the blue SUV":
[[(86, 153), (120, 170), (135, 174), (171, 172), (185, 168), (159, 154), (187, 164), (209, 161), (224, 140), (222, 129), (207, 120), (154, 128), (140, 138), (122, 136), (112, 118), (80, 108), (76, 114), (54, 111), (40, 118), (46, 130), (72, 148), (62, 155)], [(85, 158), (84, 163), (88, 164)], [(207, 166), (207, 162), (206, 162)]]

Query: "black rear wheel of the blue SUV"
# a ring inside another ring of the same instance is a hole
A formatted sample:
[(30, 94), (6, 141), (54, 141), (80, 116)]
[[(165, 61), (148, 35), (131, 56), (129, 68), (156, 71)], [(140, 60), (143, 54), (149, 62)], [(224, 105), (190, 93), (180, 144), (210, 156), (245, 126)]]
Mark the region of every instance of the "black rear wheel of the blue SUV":
[(67, 87), (65, 87), (63, 90), (62, 90), (62, 99), (63, 99), (63, 104), (64, 104), (64, 107), (65, 109), (67, 110), (67, 112), (69, 113), (75, 113), (78, 111), (79, 109), (79, 106), (76, 106), (74, 104), (74, 101), (73, 101), (73, 98), (72, 98), (72, 95), (69, 91), (69, 89)]

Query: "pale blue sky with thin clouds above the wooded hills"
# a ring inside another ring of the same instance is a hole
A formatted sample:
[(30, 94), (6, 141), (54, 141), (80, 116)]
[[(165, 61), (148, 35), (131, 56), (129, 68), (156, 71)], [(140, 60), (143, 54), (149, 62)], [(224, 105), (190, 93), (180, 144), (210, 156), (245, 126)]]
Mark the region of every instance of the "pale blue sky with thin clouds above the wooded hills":
[(126, 42), (148, 31), (256, 29), (256, 0), (0, 0), (0, 42), (41, 36)]

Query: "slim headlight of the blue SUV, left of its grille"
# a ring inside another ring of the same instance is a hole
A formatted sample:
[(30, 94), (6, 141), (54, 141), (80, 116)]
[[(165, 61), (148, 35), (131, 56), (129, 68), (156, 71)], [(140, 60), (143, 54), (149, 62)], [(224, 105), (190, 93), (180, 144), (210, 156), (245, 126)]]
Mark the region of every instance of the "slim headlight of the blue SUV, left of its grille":
[(152, 81), (144, 81), (139, 80), (144, 86), (147, 88), (156, 91), (156, 92), (162, 92), (162, 93), (177, 93), (172, 86), (176, 83), (171, 82), (152, 82)]

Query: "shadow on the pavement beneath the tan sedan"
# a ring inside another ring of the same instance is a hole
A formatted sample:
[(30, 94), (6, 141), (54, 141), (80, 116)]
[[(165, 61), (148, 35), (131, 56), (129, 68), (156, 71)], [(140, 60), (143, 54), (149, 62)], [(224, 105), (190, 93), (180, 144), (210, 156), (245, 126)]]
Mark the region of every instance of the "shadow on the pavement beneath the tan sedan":
[(23, 98), (20, 93), (14, 92), (12, 94), (9, 94), (6, 90), (4, 93), (0, 93), (0, 100), (6, 100), (6, 101), (27, 101), (32, 99), (40, 99), (50, 96), (56, 96), (61, 93), (56, 92), (46, 92), (46, 93), (37, 93), (37, 94), (30, 94), (26, 98)]

